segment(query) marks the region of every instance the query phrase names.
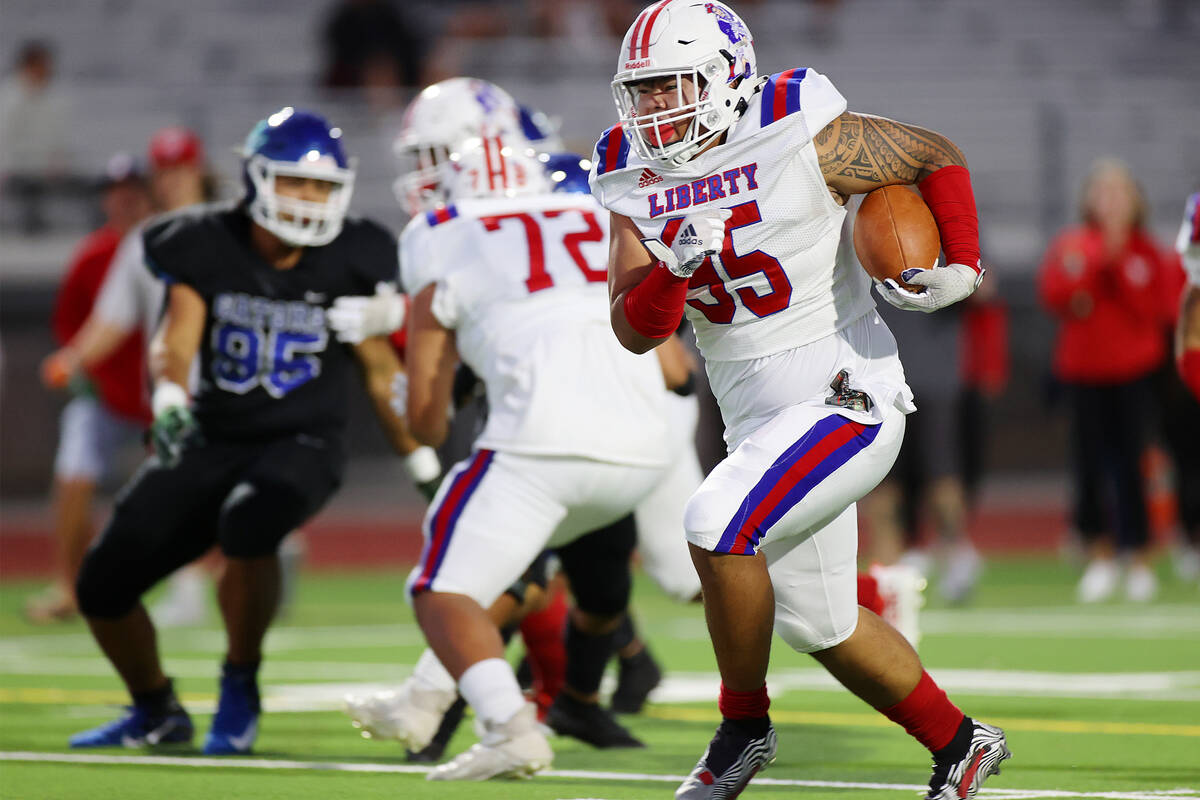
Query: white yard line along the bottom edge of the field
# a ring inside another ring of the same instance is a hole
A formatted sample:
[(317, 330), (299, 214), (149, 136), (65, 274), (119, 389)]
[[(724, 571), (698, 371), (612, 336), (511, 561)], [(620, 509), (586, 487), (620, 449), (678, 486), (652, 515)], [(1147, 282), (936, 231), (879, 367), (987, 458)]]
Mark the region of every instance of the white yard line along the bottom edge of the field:
[[(121, 764), (143, 766), (191, 766), (218, 769), (275, 769), (275, 770), (322, 770), (342, 772), (427, 772), (427, 766), (412, 764), (368, 764), (338, 762), (298, 762), (274, 758), (180, 758), (170, 756), (100, 756), (83, 753), (35, 753), (2, 752), (4, 762), (42, 762), (53, 764)], [(604, 772), (596, 770), (546, 770), (547, 777), (559, 777), (578, 781), (654, 781), (659, 783), (678, 783), (683, 775), (655, 775), (641, 772)], [(535, 778), (536, 780), (536, 778)], [(756, 777), (756, 786), (805, 787), (822, 789), (874, 789), (882, 792), (922, 792), (928, 787), (914, 783), (863, 783), (844, 781), (793, 781), (784, 778)], [(1033, 800), (1034, 798), (1096, 798), (1100, 800), (1200, 800), (1200, 792), (1190, 788), (1163, 792), (1069, 792), (1062, 789), (983, 789), (982, 795), (994, 800)]]

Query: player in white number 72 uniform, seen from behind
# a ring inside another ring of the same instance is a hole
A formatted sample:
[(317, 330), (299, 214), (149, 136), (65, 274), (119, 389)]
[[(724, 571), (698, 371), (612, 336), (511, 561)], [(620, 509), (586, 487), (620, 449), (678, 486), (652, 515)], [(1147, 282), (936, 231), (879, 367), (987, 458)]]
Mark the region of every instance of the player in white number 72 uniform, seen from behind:
[(658, 359), (629, 354), (608, 331), (604, 216), (589, 197), (550, 193), (523, 151), (518, 132), (490, 127), (443, 154), (437, 190), (452, 204), (416, 216), (401, 237), (414, 434), (430, 445), (445, 437), (460, 359), (488, 398), (475, 452), (426, 515), (408, 582), (431, 648), (484, 728), (432, 780), (550, 763), (485, 608), (542, 549), (630, 513), (670, 450)]

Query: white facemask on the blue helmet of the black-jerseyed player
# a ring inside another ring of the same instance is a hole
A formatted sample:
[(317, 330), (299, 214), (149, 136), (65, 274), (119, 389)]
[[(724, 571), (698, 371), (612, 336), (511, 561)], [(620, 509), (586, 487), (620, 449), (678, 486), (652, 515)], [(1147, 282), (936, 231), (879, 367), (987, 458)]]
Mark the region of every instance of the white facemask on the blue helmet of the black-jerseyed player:
[[(328, 163), (326, 163), (328, 162)], [(324, 203), (280, 194), (281, 175), (316, 179), (331, 185)], [(341, 168), (323, 156), (312, 163), (275, 161), (263, 155), (246, 160), (246, 176), (253, 186), (250, 216), (259, 225), (294, 247), (320, 247), (337, 239), (354, 192), (354, 167)]]

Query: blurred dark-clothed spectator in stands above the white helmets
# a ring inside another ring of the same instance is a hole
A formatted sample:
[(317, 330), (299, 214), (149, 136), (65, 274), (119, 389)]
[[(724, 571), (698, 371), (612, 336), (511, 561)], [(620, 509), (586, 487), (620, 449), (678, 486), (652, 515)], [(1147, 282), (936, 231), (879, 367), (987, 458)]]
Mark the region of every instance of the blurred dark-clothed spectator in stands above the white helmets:
[(409, 17), (389, 0), (340, 0), (322, 34), (325, 85), (424, 85), (430, 41)]

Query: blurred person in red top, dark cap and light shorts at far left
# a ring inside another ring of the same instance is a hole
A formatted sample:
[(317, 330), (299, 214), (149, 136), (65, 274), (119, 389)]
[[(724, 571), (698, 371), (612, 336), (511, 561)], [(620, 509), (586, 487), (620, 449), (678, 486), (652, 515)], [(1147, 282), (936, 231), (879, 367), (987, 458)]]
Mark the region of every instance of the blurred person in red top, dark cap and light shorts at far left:
[[(76, 249), (59, 288), (52, 327), (54, 338), (71, 341), (88, 319), (121, 237), (150, 213), (145, 179), (133, 157), (118, 154), (103, 178), (104, 224)], [(103, 361), (68, 384), (54, 461), (54, 530), (58, 576), (30, 597), (32, 621), (47, 622), (76, 613), (74, 576), (91, 541), (91, 499), (113, 453), (136, 439), (150, 422), (145, 356), (140, 333), (128, 335)]]

